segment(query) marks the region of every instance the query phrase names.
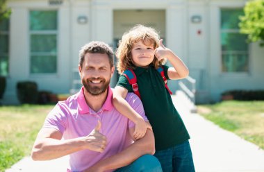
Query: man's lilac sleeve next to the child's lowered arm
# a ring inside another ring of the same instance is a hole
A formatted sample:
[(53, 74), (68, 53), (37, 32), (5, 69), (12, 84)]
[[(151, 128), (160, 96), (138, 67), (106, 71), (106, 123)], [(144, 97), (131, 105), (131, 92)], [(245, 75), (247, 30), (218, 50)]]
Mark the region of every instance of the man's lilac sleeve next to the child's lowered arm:
[[(142, 102), (137, 95), (135, 95), (134, 93), (128, 93), (126, 95), (126, 101), (129, 103), (129, 105), (131, 105), (131, 107), (135, 110), (135, 112), (138, 112), (138, 114), (140, 114), (140, 116), (145, 121), (149, 121), (145, 115), (145, 110), (144, 110), (144, 107), (142, 105)], [(135, 123), (133, 123), (133, 121), (129, 120), (129, 128), (134, 127), (134, 126), (135, 126)]]

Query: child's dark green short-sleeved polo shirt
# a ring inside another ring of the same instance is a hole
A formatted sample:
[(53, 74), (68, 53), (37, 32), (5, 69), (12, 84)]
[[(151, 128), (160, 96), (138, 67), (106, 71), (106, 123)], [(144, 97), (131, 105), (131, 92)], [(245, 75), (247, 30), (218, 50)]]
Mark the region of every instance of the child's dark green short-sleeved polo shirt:
[[(168, 67), (163, 67), (165, 77), (169, 79), (167, 76)], [(156, 150), (170, 148), (190, 139), (158, 71), (153, 66), (136, 67), (134, 71), (138, 80), (141, 101), (155, 135)], [(129, 80), (123, 75), (119, 76), (117, 85), (133, 92)]]

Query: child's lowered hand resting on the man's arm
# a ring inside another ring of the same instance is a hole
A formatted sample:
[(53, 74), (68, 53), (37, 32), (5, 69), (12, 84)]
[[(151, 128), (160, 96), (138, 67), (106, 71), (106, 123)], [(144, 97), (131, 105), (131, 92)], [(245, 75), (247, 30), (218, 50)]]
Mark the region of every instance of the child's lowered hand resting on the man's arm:
[(133, 133), (133, 137), (135, 139), (144, 137), (147, 132), (147, 128), (152, 130), (151, 125), (145, 122), (144, 119), (138, 119), (138, 121), (135, 122), (135, 131)]

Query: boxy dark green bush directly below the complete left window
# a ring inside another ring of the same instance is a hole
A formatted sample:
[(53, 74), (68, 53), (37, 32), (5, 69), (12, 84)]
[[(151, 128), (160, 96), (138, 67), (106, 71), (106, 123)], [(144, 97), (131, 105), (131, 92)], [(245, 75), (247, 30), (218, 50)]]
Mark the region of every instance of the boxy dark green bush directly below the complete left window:
[(20, 103), (35, 104), (38, 102), (38, 85), (32, 81), (17, 83), (17, 98)]

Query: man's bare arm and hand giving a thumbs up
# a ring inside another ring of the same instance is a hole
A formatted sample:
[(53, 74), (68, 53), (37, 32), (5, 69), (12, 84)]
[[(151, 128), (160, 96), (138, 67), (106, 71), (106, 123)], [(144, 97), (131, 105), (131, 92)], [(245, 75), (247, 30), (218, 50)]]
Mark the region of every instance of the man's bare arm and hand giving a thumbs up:
[(31, 157), (33, 160), (53, 160), (83, 149), (103, 152), (106, 137), (99, 132), (100, 128), (101, 122), (98, 121), (88, 136), (67, 140), (61, 140), (63, 134), (56, 129), (42, 128), (33, 145)]

